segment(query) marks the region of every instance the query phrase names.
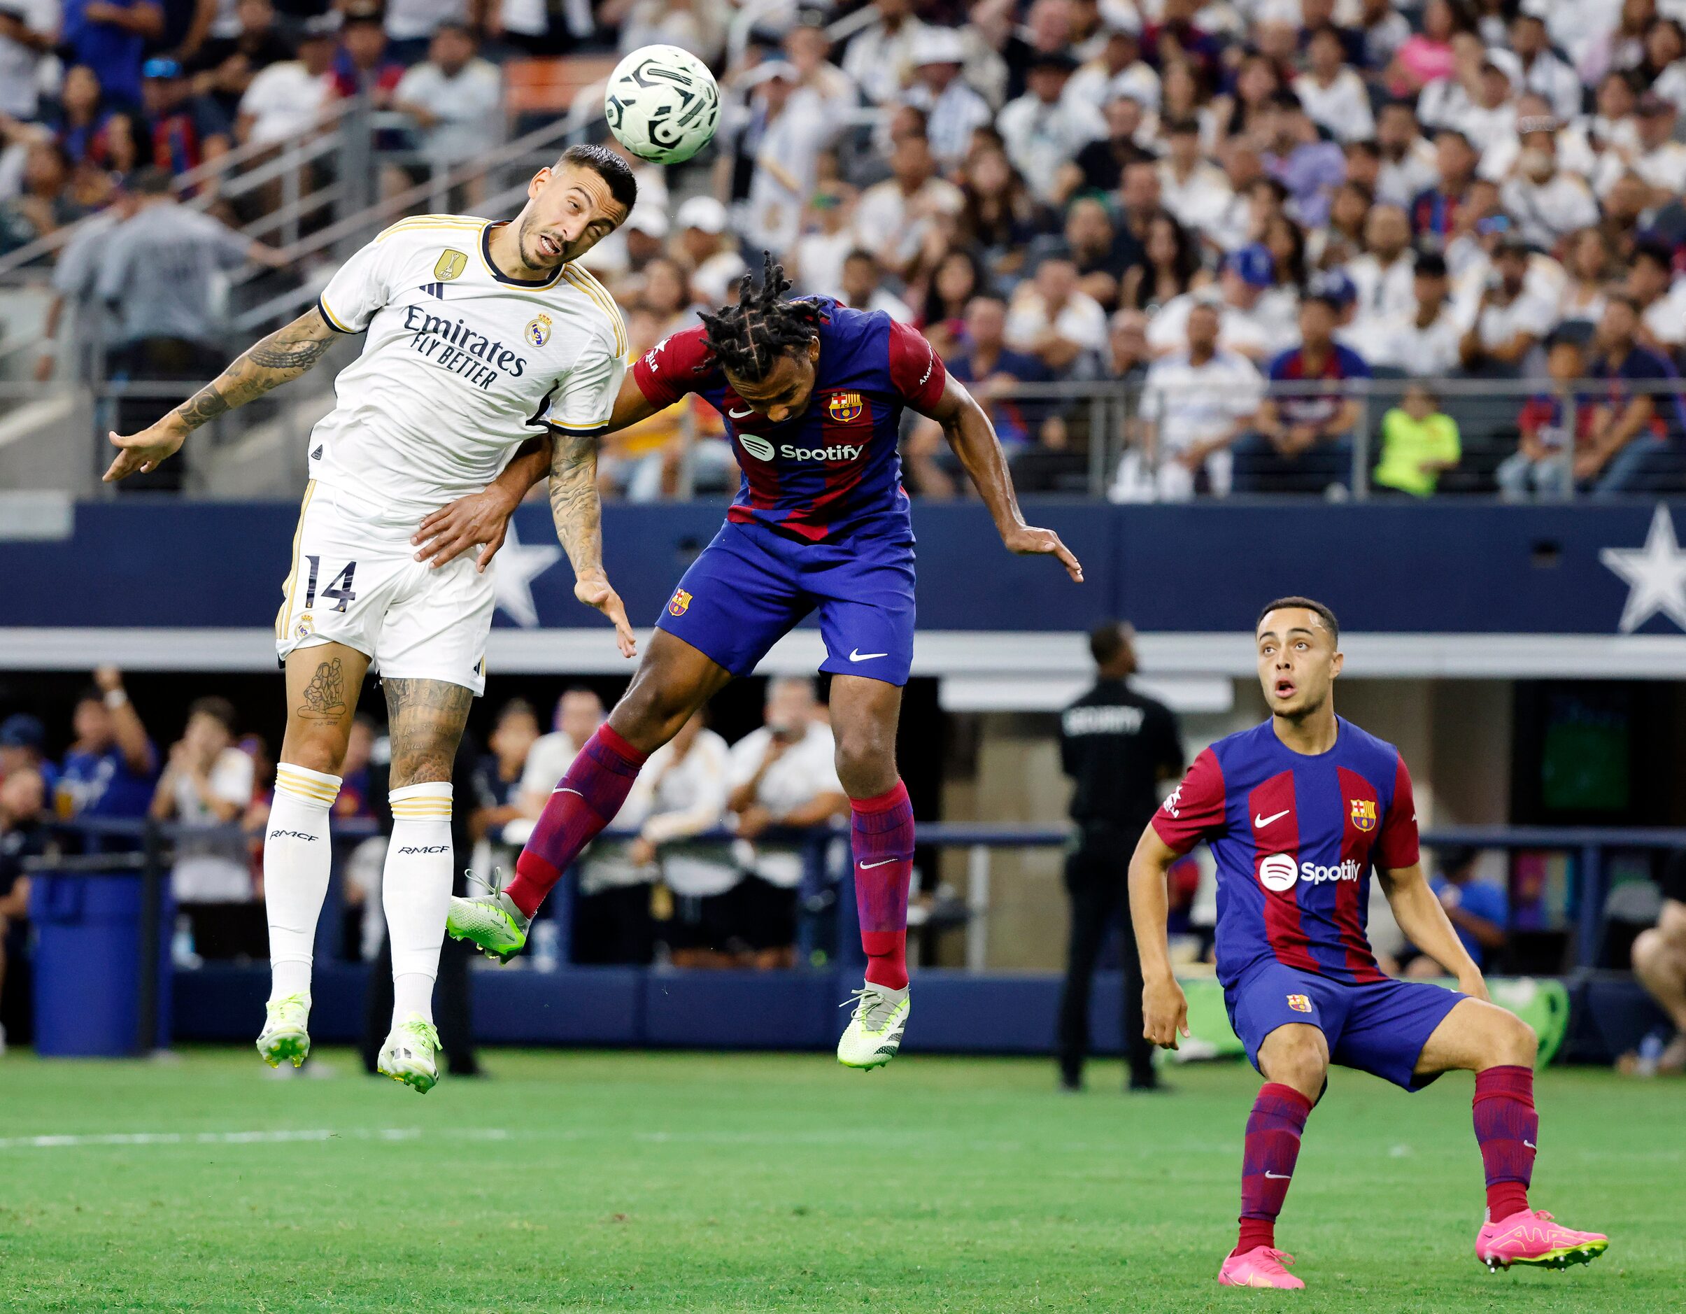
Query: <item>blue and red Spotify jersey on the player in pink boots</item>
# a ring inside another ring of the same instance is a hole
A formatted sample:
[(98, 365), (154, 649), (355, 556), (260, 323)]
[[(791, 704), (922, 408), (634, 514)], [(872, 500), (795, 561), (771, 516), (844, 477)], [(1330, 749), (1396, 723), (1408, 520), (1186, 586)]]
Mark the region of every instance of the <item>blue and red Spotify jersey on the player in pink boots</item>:
[(1383, 980), (1364, 926), (1371, 869), (1418, 860), (1411, 774), (1393, 744), (1335, 719), (1329, 752), (1285, 746), (1271, 724), (1219, 739), (1153, 813), (1185, 854), (1217, 860), (1217, 978), (1261, 960), (1349, 985)]

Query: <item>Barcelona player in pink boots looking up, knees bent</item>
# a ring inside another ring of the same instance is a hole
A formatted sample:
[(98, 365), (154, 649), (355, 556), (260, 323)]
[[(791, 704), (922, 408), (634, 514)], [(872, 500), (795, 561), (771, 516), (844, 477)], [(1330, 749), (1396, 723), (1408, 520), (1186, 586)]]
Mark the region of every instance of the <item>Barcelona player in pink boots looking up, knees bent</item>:
[[(1329, 1064), (1406, 1090), (1442, 1073), (1475, 1073), (1475, 1140), (1487, 1174), (1487, 1221), (1475, 1257), (1490, 1268), (1561, 1268), (1603, 1253), (1607, 1238), (1534, 1211), (1528, 1184), (1534, 1032), (1487, 999), (1435, 897), (1416, 850), (1411, 776), (1393, 744), (1335, 715), (1340, 629), (1307, 597), (1271, 602), (1254, 627), (1271, 719), (1205, 749), (1141, 833), (1130, 906), (1141, 953), (1143, 1031), (1177, 1047), (1189, 1005), (1165, 950), (1165, 870), (1199, 840), (1217, 860), (1217, 978), (1229, 1021), (1264, 1076), (1248, 1118), (1241, 1236), (1217, 1280), (1303, 1287), (1276, 1248), (1300, 1134)], [(1401, 982), (1376, 967), (1364, 934), (1376, 870), (1399, 929), (1455, 968), (1458, 988)]]

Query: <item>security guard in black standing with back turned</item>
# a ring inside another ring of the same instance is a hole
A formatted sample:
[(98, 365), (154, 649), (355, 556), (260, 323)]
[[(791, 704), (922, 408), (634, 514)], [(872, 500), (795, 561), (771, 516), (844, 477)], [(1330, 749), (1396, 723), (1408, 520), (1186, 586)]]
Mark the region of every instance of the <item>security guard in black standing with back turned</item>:
[(1082, 1085), (1089, 1051), (1089, 988), (1108, 929), (1118, 926), (1125, 973), (1130, 1088), (1152, 1090), (1153, 1046), (1141, 1036), (1141, 963), (1130, 926), (1128, 874), (1158, 786), (1182, 774), (1182, 737), (1168, 707), (1130, 688), (1136, 653), (1130, 626), (1108, 621), (1089, 634), (1096, 685), (1060, 714), (1060, 764), (1076, 781), (1071, 816), (1077, 848), (1066, 857), (1071, 951), (1059, 1012), (1060, 1081)]

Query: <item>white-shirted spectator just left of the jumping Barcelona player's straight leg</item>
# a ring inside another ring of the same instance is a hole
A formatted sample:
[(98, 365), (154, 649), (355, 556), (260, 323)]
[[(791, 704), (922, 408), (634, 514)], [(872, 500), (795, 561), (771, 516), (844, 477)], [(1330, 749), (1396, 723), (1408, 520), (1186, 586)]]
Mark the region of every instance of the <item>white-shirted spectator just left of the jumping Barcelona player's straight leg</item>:
[(771, 827), (819, 827), (848, 813), (836, 773), (836, 742), (819, 719), (811, 680), (781, 676), (767, 683), (765, 724), (732, 746), (732, 793), (737, 815), (737, 938), (754, 967), (791, 967), (796, 951), (796, 899), (804, 850), (757, 842)]

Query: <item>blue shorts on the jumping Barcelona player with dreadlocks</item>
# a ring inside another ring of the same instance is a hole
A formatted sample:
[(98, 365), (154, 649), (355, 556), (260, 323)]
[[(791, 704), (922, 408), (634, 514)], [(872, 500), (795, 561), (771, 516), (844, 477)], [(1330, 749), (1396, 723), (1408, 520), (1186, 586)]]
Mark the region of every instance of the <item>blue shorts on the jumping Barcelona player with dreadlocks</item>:
[(732, 675), (749, 675), (811, 611), (831, 675), (905, 685), (914, 665), (914, 545), (855, 535), (804, 543), (727, 521), (656, 619)]

